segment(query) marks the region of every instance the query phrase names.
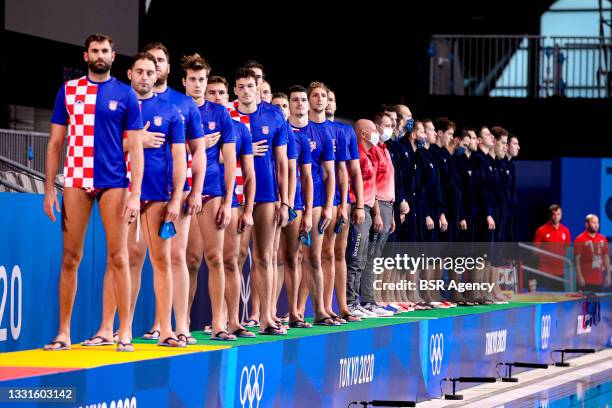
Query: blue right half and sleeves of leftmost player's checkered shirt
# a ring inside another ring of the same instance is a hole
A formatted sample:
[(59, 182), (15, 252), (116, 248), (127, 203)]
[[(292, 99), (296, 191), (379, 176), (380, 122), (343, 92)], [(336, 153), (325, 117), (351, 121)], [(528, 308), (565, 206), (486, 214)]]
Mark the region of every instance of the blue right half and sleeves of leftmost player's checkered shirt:
[[(91, 104), (91, 111), (87, 112), (93, 114), (93, 135), (96, 141), (89, 178), (93, 178), (94, 188), (125, 188), (129, 180), (123, 152), (123, 132), (143, 128), (138, 97), (129, 85), (114, 77), (105, 82), (94, 82), (89, 78), (87, 81), (97, 86), (95, 106)], [(57, 92), (51, 117), (51, 123), (62, 126), (70, 124), (66, 86), (62, 85)], [(74, 96), (73, 92), (70, 94)], [(89, 106), (86, 99), (83, 105)]]

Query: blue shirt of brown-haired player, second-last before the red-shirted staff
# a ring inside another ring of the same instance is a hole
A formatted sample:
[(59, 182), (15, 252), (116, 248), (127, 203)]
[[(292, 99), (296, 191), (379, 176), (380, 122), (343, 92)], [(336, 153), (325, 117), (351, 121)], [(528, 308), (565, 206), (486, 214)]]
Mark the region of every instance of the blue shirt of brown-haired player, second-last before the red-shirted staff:
[(323, 162), (334, 161), (334, 142), (330, 128), (323, 124), (308, 122), (303, 128), (293, 127), (303, 133), (310, 143), (312, 157), (313, 207), (325, 204), (325, 180)]

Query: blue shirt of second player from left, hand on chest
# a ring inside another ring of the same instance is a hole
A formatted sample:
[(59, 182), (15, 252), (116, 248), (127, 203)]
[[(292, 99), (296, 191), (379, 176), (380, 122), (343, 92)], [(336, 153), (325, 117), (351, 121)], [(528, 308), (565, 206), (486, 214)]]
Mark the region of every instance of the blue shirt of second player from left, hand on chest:
[(142, 178), (141, 201), (168, 201), (169, 185), (165, 182), (172, 177), (172, 146), (185, 143), (185, 126), (175, 105), (153, 96), (143, 99), (142, 120), (149, 122), (150, 132), (160, 132), (166, 141), (159, 148), (144, 149), (144, 174)]

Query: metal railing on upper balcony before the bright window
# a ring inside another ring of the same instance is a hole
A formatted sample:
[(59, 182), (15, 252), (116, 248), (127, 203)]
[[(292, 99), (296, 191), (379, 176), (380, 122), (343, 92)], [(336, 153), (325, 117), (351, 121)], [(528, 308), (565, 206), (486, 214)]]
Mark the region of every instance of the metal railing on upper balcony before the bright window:
[(431, 95), (609, 98), (612, 39), (434, 35)]

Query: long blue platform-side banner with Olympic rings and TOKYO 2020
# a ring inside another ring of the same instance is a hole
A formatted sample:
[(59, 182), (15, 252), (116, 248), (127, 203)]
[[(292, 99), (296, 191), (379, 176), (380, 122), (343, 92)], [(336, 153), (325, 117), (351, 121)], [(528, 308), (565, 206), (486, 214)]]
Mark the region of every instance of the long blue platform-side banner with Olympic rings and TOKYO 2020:
[[(440, 396), (442, 378), (497, 377), (498, 363), (551, 363), (549, 353), (557, 347), (610, 347), (611, 303), (610, 296), (602, 299), (601, 319), (587, 316), (592, 324), (585, 324), (580, 300), (419, 322), (399, 323), (398, 318), (385, 327), (4, 381), (0, 386), (75, 387), (76, 406), (118, 406), (122, 401), (123, 407), (328, 407), (355, 400), (423, 401)], [(504, 370), (500, 367), (499, 373)], [(444, 392), (450, 385), (446, 387)]]

